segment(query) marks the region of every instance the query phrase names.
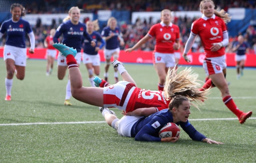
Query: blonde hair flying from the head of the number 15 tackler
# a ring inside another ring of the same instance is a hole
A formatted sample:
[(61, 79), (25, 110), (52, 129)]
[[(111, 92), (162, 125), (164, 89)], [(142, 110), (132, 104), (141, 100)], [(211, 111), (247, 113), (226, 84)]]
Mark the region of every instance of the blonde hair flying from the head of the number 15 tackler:
[[(178, 68), (179, 69), (179, 68)], [(177, 70), (178, 70), (177, 69)], [(165, 98), (167, 100), (172, 100), (175, 96), (181, 95), (187, 97), (190, 101), (195, 101), (196, 104), (191, 103), (191, 105), (198, 108), (198, 104), (203, 104), (202, 101), (207, 99), (209, 94), (209, 89), (200, 91), (200, 83), (204, 83), (197, 79), (198, 74), (193, 73), (190, 68), (185, 68), (184, 70), (176, 73), (175, 69), (169, 69), (166, 76), (166, 82), (164, 85)], [(170, 102), (171, 103), (171, 102)], [(170, 109), (169, 103), (169, 109)], [(198, 108), (199, 109), (199, 108)]]

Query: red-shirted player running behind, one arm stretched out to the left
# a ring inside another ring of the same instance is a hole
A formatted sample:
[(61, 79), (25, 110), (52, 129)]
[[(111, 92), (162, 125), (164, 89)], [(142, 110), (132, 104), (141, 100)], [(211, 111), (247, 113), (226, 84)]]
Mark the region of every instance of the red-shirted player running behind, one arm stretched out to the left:
[(155, 50), (153, 51), (153, 64), (159, 77), (158, 90), (164, 89), (164, 83), (169, 68), (175, 67), (174, 50), (180, 48), (180, 29), (171, 23), (171, 11), (164, 9), (161, 11), (161, 22), (153, 25), (138, 43), (125, 52), (132, 52), (146, 43), (150, 38), (156, 38)]

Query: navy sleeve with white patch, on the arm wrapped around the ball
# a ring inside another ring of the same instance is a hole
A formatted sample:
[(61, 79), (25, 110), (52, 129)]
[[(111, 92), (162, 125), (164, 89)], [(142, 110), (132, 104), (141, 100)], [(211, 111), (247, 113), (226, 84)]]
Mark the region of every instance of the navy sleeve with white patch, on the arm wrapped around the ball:
[[(162, 116), (154, 116), (140, 131), (136, 134), (137, 141), (161, 141), (158, 137), (159, 130), (166, 124)], [(156, 137), (157, 136), (157, 137)]]

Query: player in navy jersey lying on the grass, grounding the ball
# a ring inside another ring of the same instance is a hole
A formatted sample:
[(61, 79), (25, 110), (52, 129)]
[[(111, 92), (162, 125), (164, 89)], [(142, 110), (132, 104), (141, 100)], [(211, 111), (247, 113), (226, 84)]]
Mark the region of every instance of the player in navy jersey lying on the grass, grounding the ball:
[(171, 99), (168, 109), (163, 109), (148, 117), (125, 115), (118, 119), (108, 108), (100, 109), (107, 124), (117, 130), (121, 136), (135, 137), (137, 141), (176, 142), (179, 137), (159, 138), (159, 130), (168, 122), (174, 122), (189, 135), (192, 140), (209, 144), (223, 144), (207, 138), (198, 132), (188, 121), (190, 101), (188, 98), (176, 95)]

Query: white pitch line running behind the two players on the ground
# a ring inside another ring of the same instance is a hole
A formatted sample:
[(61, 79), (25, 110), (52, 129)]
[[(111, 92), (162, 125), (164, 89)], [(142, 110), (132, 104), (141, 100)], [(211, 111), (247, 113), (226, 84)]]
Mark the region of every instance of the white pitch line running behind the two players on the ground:
[[(256, 119), (250, 117), (249, 119)], [(189, 121), (208, 121), (208, 120), (238, 120), (237, 118), (204, 118), (204, 119), (189, 119)], [(248, 119), (247, 119), (248, 120)], [(106, 121), (84, 121), (84, 122), (36, 122), (36, 123), (3, 123), (0, 126), (19, 126), (19, 125), (40, 125), (40, 124), (85, 124), (85, 123), (106, 123)]]

